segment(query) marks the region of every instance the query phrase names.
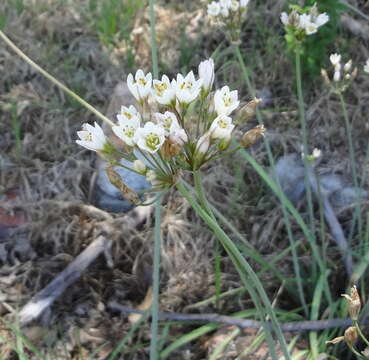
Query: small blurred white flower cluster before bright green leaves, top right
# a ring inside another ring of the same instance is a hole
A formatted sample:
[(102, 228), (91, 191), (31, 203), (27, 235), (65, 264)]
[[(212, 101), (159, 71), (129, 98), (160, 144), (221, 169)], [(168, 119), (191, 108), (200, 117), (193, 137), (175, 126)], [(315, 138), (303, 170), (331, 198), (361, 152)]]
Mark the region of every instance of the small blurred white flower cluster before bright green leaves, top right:
[(284, 26), (294, 30), (302, 30), (306, 35), (315, 34), (318, 29), (329, 21), (327, 13), (319, 14), (316, 4), (310, 8), (308, 13), (299, 14), (292, 11), (290, 14), (283, 12), (281, 21)]

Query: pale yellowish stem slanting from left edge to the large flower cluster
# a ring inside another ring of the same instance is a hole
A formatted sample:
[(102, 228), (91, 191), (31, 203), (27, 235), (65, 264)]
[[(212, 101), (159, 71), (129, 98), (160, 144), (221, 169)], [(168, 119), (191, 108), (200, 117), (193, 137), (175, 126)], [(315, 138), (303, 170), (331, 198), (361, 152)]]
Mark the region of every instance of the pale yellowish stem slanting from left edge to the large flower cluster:
[(92, 105), (90, 105), (87, 101), (83, 100), (80, 96), (78, 96), (75, 92), (67, 88), (64, 84), (62, 84), (59, 80), (57, 80), (55, 77), (50, 75), (48, 72), (46, 72), (44, 69), (42, 69), (40, 66), (38, 66), (34, 61), (32, 61), (21, 49), (19, 49), (1, 30), (0, 30), (0, 38), (2, 38), (9, 47), (12, 48), (12, 50), (20, 56), (27, 64), (31, 65), (34, 69), (36, 69), (39, 73), (41, 73), (43, 76), (45, 76), (48, 80), (50, 80), (53, 84), (61, 88), (64, 92), (66, 92), (69, 96), (71, 96), (73, 99), (78, 101), (81, 105), (83, 105), (86, 109), (93, 112), (97, 117), (99, 117), (101, 120), (107, 122), (109, 125), (113, 126), (115, 125), (110, 119), (108, 119), (105, 115), (103, 115), (100, 111), (98, 111), (96, 108), (94, 108)]

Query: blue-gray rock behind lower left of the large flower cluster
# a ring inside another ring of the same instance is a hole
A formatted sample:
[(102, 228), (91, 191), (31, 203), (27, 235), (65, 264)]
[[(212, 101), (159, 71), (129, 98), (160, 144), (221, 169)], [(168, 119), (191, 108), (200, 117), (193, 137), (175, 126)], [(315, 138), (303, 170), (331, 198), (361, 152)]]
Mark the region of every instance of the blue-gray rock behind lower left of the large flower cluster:
[[(132, 163), (127, 160), (122, 160), (121, 164), (132, 167)], [(125, 200), (121, 192), (110, 183), (106, 175), (107, 163), (100, 161), (98, 164), (98, 176), (96, 181), (95, 201), (96, 205), (104, 210), (120, 213), (126, 212), (133, 208), (134, 204)], [(138, 175), (133, 171), (122, 167), (115, 167), (114, 170), (121, 176), (122, 181), (128, 187), (135, 191), (147, 190), (151, 185), (142, 175)]]

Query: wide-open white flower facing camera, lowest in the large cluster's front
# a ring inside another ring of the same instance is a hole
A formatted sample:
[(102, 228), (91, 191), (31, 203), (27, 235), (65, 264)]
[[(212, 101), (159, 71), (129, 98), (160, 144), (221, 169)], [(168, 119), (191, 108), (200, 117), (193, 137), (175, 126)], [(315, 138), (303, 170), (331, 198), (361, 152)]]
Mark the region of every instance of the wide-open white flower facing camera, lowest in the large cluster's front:
[(165, 130), (161, 125), (149, 121), (143, 128), (138, 128), (135, 134), (135, 143), (144, 151), (156, 153), (165, 141)]

